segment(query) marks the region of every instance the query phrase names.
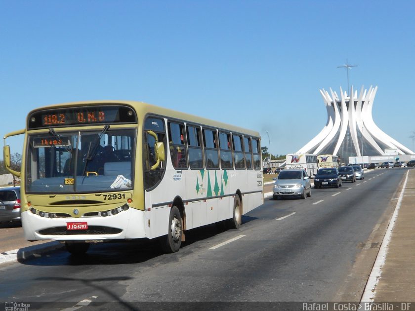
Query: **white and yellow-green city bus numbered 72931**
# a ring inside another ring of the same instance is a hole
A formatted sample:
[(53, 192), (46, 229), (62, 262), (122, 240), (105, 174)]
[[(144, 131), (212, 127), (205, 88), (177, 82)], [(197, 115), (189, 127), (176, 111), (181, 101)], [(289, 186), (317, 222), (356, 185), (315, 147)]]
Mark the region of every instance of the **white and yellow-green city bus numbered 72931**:
[[(22, 168), (6, 138), (24, 135)], [(21, 177), (27, 240), (58, 240), (73, 254), (90, 243), (160, 239), (179, 250), (187, 230), (239, 228), (263, 203), (256, 131), (142, 102), (53, 105), (4, 136), (4, 163)]]

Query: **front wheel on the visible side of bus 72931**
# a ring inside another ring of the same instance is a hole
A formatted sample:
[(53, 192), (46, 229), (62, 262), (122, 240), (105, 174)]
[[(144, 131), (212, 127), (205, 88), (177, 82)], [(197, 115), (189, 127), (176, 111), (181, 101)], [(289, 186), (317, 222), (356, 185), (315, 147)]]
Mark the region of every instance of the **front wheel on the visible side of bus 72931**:
[(175, 253), (179, 250), (182, 237), (182, 219), (179, 209), (173, 206), (168, 218), (168, 233), (161, 237), (162, 249), (165, 253)]

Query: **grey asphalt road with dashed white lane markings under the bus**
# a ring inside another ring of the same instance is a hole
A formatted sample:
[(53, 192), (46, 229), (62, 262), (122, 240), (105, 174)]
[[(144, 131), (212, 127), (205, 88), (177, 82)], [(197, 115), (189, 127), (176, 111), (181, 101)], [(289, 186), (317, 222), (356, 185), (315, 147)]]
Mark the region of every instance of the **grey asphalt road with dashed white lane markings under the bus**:
[(376, 169), (339, 189), (312, 189), (305, 200), (267, 198), (238, 230), (187, 232), (175, 254), (135, 241), (92, 245), (82, 258), (57, 250), (5, 264), (0, 301), (79, 309), (81, 301), (104, 309), (107, 302), (135, 309), (137, 301), (358, 301), (406, 170)]

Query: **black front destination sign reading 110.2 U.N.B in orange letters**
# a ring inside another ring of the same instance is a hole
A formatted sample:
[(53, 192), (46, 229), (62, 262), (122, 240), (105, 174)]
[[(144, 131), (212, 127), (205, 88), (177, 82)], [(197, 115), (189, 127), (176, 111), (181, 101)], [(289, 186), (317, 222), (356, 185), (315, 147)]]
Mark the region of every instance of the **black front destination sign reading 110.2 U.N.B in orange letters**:
[(28, 128), (133, 123), (135, 121), (133, 110), (126, 106), (83, 106), (35, 112), (29, 116)]

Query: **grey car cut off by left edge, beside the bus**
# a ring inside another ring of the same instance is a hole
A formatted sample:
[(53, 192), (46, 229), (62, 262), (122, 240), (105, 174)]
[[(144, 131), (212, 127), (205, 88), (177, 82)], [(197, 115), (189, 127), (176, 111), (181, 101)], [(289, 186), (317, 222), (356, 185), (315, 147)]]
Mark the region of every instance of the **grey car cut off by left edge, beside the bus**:
[(0, 188), (0, 223), (20, 221), (20, 187)]

